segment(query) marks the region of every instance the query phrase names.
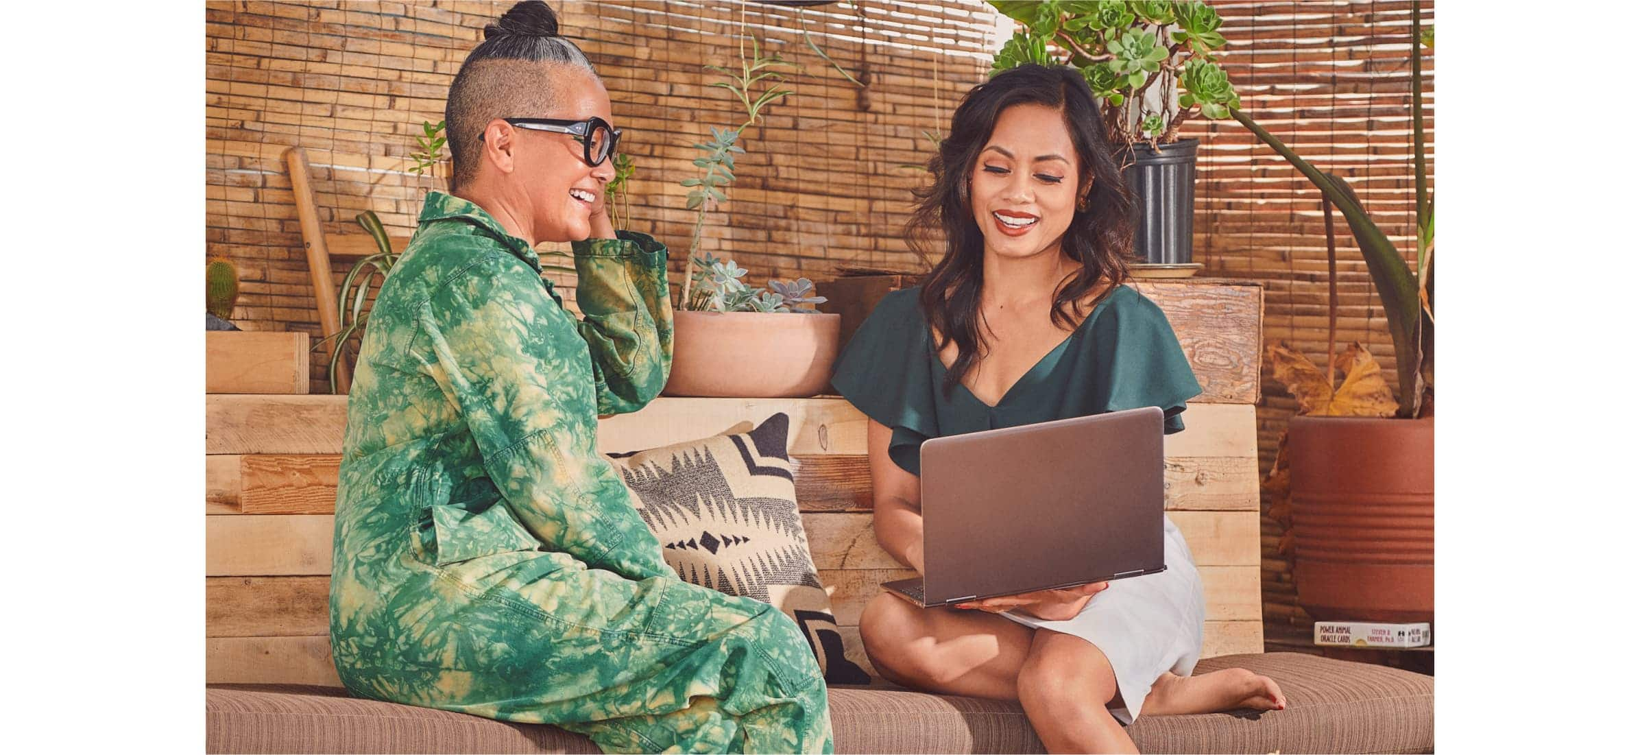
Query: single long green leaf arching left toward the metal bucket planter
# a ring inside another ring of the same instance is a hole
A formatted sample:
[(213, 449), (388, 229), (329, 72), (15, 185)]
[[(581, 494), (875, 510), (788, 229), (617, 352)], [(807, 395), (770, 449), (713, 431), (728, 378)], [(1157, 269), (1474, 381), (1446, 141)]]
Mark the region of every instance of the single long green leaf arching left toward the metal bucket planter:
[(1355, 197), (1350, 184), (1338, 176), (1325, 174), (1315, 166), (1299, 158), (1287, 144), (1253, 121), (1246, 113), (1230, 108), (1230, 115), (1253, 131), (1264, 144), (1279, 153), (1304, 177), (1310, 179), (1327, 200), (1338, 207), (1350, 223), (1356, 246), (1373, 277), (1373, 287), (1384, 305), (1384, 318), (1389, 320), (1389, 338), (1396, 345), (1396, 373), (1401, 382), (1401, 417), (1415, 417), (1424, 396), (1422, 348), (1422, 310), (1419, 304), (1419, 286), (1407, 261), (1401, 256), (1389, 236), (1366, 215), (1361, 202)]

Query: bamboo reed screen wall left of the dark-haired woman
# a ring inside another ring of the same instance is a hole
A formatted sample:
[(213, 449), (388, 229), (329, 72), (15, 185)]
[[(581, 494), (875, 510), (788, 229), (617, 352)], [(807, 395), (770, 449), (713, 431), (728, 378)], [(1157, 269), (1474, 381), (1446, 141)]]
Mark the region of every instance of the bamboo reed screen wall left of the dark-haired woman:
[[(376, 210), (408, 236), (428, 189), (408, 172), (421, 121), (443, 118), (444, 95), (485, 23), (512, 2), (207, 3), (207, 253), (241, 272), (235, 322), (248, 330), (318, 332), (290, 181), (280, 154), (308, 153), (328, 233), (362, 233)], [(828, 277), (838, 264), (912, 266), (900, 228), (909, 189), (932, 153), (922, 131), (989, 69), (997, 15), (977, 0), (861, 0), (817, 8), (740, 2), (563, 2), (561, 30), (610, 90), (636, 159), (633, 230), (656, 235), (682, 269), (694, 213), (677, 181), (697, 176), (705, 128), (745, 120), (704, 64), (738, 66), (754, 34), (804, 72), (741, 140), (740, 179), (708, 217), (704, 248), (733, 251), (766, 276)], [(820, 59), (809, 36), (866, 87)], [(543, 245), (549, 248), (551, 245)], [(553, 263), (551, 258), (544, 259)], [(336, 259), (338, 281), (351, 259)], [(571, 274), (551, 274), (563, 284)], [(674, 274), (674, 281), (681, 276)], [(574, 289), (563, 289), (572, 299)], [(326, 389), (313, 359), (313, 389)]]

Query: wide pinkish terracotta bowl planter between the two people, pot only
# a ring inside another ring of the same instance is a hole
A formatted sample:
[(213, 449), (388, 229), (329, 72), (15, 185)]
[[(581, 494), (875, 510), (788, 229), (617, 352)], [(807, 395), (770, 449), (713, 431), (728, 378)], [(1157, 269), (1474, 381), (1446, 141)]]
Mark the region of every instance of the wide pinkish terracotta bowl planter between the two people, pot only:
[(802, 399), (830, 389), (843, 317), (672, 312), (666, 396)]

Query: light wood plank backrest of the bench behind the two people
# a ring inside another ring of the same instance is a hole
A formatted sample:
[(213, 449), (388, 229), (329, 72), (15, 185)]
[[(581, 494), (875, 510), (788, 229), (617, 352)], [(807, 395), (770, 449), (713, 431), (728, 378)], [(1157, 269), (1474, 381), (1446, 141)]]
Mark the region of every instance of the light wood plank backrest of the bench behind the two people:
[[(749, 428), (774, 412), (787, 438), (810, 551), (851, 660), (869, 660), (859, 614), (884, 581), (910, 576), (871, 533), (866, 419), (843, 399), (656, 399), (600, 420), (604, 451)], [(1196, 404), (1166, 440), (1168, 509), (1207, 589), (1205, 655), (1263, 650), (1258, 479), (1250, 405)], [(208, 396), (207, 678), (336, 684), (328, 574), (341, 428), (336, 396)], [(1238, 438), (1240, 437), (1240, 438)], [(326, 451), (326, 453), (294, 453)]]

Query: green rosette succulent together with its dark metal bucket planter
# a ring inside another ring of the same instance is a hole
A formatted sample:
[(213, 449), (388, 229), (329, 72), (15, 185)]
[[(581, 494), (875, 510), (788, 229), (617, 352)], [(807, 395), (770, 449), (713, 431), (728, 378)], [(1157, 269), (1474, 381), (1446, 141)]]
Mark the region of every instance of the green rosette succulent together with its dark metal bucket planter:
[[(1202, 2), (1048, 0), (992, 7), (1023, 28), (992, 71), (1025, 62), (1073, 66), (1104, 100), (1104, 126), (1123, 144), (1133, 194), (1137, 276), (1187, 276), (1196, 205), (1196, 144), (1179, 126), (1192, 115), (1228, 118), (1240, 98), (1214, 51), (1219, 13)], [(1050, 49), (1050, 44), (1056, 49)]]

